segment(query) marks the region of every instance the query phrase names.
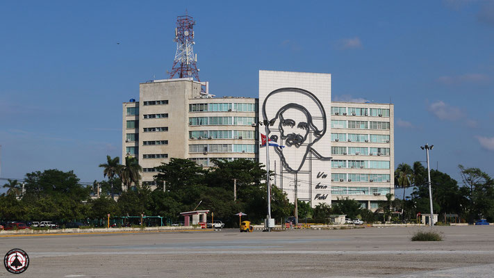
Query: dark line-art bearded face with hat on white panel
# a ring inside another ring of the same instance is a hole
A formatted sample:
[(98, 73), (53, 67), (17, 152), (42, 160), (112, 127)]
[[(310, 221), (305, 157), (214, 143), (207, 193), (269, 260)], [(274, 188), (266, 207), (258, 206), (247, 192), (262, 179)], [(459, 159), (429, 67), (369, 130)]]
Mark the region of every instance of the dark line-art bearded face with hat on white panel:
[[(286, 98), (283, 97), (283, 92), (286, 94)], [(277, 94), (281, 96), (277, 101), (278, 104), (280, 99), (293, 101), (295, 98), (301, 101), (288, 104), (286, 104), (287, 101), (281, 101), (285, 102), (285, 104), (276, 111), (274, 117), (270, 118), (268, 114), (270, 112), (273, 113), (274, 109), (276, 109), (274, 108), (275, 106), (270, 104), (270, 97)], [(302, 100), (307, 99), (311, 99), (313, 111), (309, 111), (305, 106), (298, 104), (298, 102), (302, 103), (304, 102)], [(317, 117), (316, 120), (313, 118), (313, 114)], [(322, 104), (311, 92), (299, 88), (274, 90), (265, 98), (263, 116), (265, 120), (267, 119), (272, 123), (272, 125), (267, 126), (267, 138), (270, 138), (270, 142), (276, 142), (276, 144), (273, 144), (274, 150), (288, 172), (299, 172), (310, 152), (315, 158), (331, 159), (322, 157), (313, 149), (313, 144), (324, 136), (327, 121)]]

